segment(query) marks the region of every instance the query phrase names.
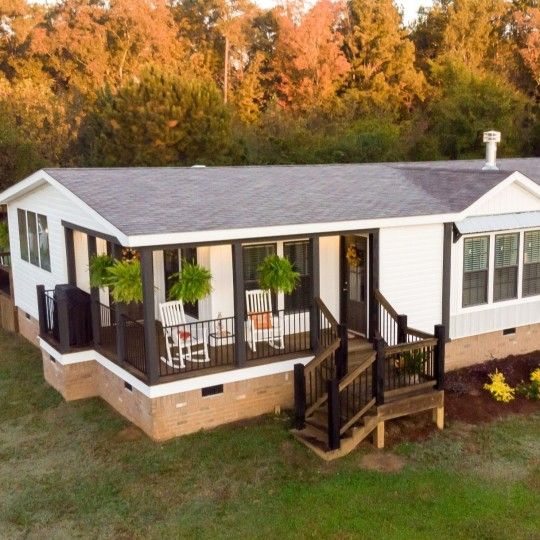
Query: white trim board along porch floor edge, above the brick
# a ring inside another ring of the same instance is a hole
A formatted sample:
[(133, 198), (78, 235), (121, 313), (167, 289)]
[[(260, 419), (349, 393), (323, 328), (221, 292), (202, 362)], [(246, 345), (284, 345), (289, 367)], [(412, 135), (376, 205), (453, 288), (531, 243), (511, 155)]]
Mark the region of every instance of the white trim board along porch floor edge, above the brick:
[(130, 384), (133, 388), (137, 389), (139, 392), (141, 392), (141, 394), (151, 399), (189, 392), (191, 390), (200, 390), (201, 388), (214, 386), (217, 384), (229, 384), (233, 382), (257, 379), (259, 377), (266, 377), (268, 375), (288, 373), (293, 371), (294, 364), (306, 365), (313, 359), (313, 355), (305, 356), (302, 358), (294, 358), (292, 360), (283, 360), (281, 362), (272, 362), (270, 364), (263, 364), (260, 366), (231, 369), (228, 371), (222, 371), (220, 373), (201, 375), (199, 377), (191, 377), (189, 379), (183, 379), (180, 381), (172, 381), (169, 383), (149, 386), (93, 349), (76, 353), (61, 354), (41, 338), (39, 338), (39, 345), (46, 353), (50, 354), (60, 365), (63, 366), (78, 364), (81, 362), (96, 361), (110, 372), (114, 373), (117, 377)]

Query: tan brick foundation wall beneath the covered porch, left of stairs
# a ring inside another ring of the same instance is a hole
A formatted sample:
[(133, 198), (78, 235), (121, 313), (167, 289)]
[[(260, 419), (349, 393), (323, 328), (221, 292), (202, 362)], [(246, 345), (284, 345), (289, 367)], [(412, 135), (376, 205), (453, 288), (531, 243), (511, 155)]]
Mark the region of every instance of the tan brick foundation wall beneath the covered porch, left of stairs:
[(47, 382), (64, 399), (100, 396), (156, 440), (272, 413), (293, 406), (293, 373), (279, 373), (227, 383), (223, 393), (202, 397), (201, 389), (149, 398), (98, 362), (53, 362), (43, 351)]

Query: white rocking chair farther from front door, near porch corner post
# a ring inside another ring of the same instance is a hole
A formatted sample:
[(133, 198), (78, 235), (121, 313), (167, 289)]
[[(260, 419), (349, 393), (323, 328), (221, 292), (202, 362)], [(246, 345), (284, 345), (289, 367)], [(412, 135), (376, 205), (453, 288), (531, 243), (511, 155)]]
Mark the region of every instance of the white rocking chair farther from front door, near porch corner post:
[[(184, 305), (179, 300), (163, 302), (159, 304), (161, 324), (165, 335), (167, 358), (161, 357), (161, 361), (171, 367), (185, 369), (185, 361), (210, 362), (208, 356), (208, 336), (206, 328), (200, 323), (189, 324), (186, 322)], [(174, 349), (178, 355), (173, 354)], [(196, 350), (193, 350), (195, 349)]]

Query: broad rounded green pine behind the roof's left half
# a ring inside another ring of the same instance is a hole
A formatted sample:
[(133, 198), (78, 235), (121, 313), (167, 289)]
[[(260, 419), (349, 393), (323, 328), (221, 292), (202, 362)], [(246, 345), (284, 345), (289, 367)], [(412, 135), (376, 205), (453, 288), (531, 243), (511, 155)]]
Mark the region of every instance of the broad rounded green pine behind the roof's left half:
[(229, 151), (229, 117), (213, 83), (144, 71), (98, 97), (79, 138), (90, 165), (214, 164)]

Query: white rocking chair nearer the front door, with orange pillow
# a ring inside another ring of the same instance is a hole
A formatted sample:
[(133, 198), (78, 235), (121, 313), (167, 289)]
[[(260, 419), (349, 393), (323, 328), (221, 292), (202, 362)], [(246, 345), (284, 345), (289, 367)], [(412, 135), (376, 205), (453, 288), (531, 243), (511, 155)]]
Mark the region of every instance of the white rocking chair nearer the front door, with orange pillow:
[(255, 352), (257, 343), (266, 342), (274, 349), (284, 349), (283, 318), (272, 314), (270, 291), (246, 291), (246, 341)]

